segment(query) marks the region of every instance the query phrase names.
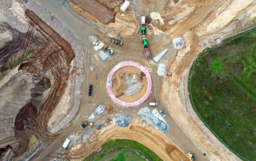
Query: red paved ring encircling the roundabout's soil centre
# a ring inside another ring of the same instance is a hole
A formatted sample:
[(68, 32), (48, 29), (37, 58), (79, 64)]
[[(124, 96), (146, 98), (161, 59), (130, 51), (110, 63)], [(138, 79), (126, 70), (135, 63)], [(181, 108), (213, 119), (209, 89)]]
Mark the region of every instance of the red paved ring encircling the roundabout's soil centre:
[[(148, 86), (147, 86), (147, 92), (146, 94), (144, 94), (144, 96), (142, 98), (140, 98), (140, 100), (132, 102), (132, 103), (126, 103), (124, 101), (119, 100), (118, 98), (116, 98), (116, 96), (113, 94), (112, 89), (111, 89), (111, 80), (112, 80), (112, 76), (114, 75), (114, 73), (125, 66), (133, 66), (136, 68), (139, 68), (141, 71), (143, 71), (146, 74), (146, 78), (147, 78), (147, 82), (148, 82)], [(135, 63), (132, 61), (125, 61), (125, 62), (121, 62), (119, 64), (117, 64), (113, 69), (111, 69), (108, 78), (107, 78), (107, 82), (106, 82), (106, 88), (108, 91), (109, 96), (112, 98), (112, 100), (121, 105), (121, 106), (125, 106), (125, 107), (134, 107), (137, 106), (141, 103), (143, 103), (144, 101), (146, 101), (146, 99), (148, 98), (148, 96), (150, 95), (151, 89), (152, 89), (152, 80), (150, 77), (149, 72), (147, 71), (147, 69), (145, 67), (143, 67), (142, 65), (140, 65), (139, 63)]]

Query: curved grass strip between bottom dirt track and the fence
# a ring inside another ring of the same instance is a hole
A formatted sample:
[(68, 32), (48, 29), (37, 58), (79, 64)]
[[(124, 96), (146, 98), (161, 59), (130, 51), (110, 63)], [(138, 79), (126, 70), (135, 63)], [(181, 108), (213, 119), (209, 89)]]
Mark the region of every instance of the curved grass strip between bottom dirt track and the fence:
[[(129, 140), (129, 139), (115, 139), (115, 140), (111, 140), (111, 141), (108, 141), (104, 144), (101, 145), (101, 148), (102, 150), (97, 152), (97, 151), (94, 151), (92, 152), (88, 157), (86, 157), (84, 159), (84, 161), (92, 161), (94, 160), (95, 158), (97, 158), (97, 156), (99, 156), (103, 150), (105, 150), (107, 147), (111, 147), (111, 146), (126, 146), (126, 147), (130, 147), (130, 148), (133, 148), (133, 149), (136, 149), (136, 150), (139, 150), (141, 151), (141, 153), (143, 153), (145, 156), (147, 156), (149, 159), (151, 160), (154, 160), (154, 161), (162, 161), (162, 159), (156, 155), (153, 151), (151, 151), (150, 149), (148, 149), (147, 147), (145, 147), (143, 144), (140, 144), (139, 142), (137, 141), (134, 141), (134, 140)], [(120, 151), (116, 151), (117, 153), (120, 153)], [(113, 152), (110, 152), (110, 153), (113, 153)], [(103, 158), (105, 155), (108, 155), (109, 153), (103, 153), (98, 159), (101, 159)], [(136, 155), (136, 154), (134, 154)], [(139, 155), (137, 155), (139, 156)], [(135, 157), (135, 156), (134, 156)], [(140, 156), (139, 156), (140, 157)], [(97, 159), (97, 160), (98, 160)], [(132, 159), (136, 159), (135, 158), (130, 158), (131, 160)]]

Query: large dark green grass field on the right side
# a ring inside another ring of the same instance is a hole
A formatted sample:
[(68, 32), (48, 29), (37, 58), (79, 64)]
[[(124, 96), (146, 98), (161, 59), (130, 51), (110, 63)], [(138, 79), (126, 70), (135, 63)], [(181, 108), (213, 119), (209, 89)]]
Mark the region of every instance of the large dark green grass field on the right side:
[(233, 151), (249, 160), (256, 160), (255, 91), (255, 30), (198, 58), (190, 91), (195, 108)]

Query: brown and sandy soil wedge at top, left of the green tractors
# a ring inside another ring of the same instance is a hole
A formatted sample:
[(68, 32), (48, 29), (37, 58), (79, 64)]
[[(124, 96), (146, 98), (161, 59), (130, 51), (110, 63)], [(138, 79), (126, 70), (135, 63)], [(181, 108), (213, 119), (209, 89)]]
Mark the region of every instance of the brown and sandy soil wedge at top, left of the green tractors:
[[(92, 4), (97, 4), (93, 6)], [(120, 10), (120, 5), (117, 1), (80, 1), (71, 0), (70, 5), (79, 14), (81, 14), (86, 19), (94, 22), (96, 24), (101, 24), (107, 27), (111, 33), (112, 37), (122, 35), (124, 37), (130, 37), (138, 33), (139, 28), (137, 26), (137, 17), (132, 4), (126, 9), (124, 17), (121, 16), (123, 13)]]

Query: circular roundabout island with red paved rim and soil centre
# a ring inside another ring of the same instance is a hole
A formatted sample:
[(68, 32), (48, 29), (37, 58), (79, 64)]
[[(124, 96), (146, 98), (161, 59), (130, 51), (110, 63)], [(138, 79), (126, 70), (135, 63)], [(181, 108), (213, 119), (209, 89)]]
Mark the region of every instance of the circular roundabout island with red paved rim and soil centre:
[(134, 107), (146, 101), (152, 89), (152, 80), (145, 67), (126, 61), (117, 64), (110, 71), (106, 87), (115, 103)]

